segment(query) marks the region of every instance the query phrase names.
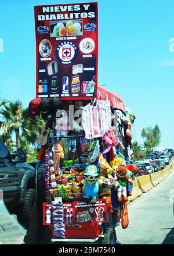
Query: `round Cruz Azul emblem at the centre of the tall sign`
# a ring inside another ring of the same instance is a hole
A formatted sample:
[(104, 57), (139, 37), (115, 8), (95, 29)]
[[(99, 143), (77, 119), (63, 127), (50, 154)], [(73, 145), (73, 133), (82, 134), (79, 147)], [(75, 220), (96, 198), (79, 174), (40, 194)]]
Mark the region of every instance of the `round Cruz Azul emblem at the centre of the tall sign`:
[(56, 58), (62, 64), (70, 64), (77, 57), (77, 47), (74, 42), (65, 41), (58, 45)]

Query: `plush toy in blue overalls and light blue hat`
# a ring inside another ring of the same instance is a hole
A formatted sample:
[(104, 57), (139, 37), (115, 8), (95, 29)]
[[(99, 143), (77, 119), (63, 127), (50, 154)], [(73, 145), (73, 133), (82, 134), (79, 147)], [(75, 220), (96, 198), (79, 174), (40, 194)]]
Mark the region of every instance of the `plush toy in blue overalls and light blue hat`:
[(95, 165), (89, 165), (85, 169), (85, 179), (82, 180), (79, 187), (85, 186), (85, 194), (86, 194), (86, 203), (89, 202), (95, 203), (97, 199), (97, 194), (99, 192), (99, 174), (97, 172), (97, 167)]

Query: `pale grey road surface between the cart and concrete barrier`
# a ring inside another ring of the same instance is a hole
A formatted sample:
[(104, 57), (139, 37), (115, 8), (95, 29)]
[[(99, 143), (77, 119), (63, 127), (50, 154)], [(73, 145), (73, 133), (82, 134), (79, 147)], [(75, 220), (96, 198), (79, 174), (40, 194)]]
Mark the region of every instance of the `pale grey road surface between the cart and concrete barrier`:
[[(174, 226), (173, 181), (174, 171), (158, 186), (128, 205), (129, 226), (127, 229), (122, 229), (121, 225), (116, 228), (118, 243), (163, 243)], [(174, 237), (170, 239), (173, 241)]]

